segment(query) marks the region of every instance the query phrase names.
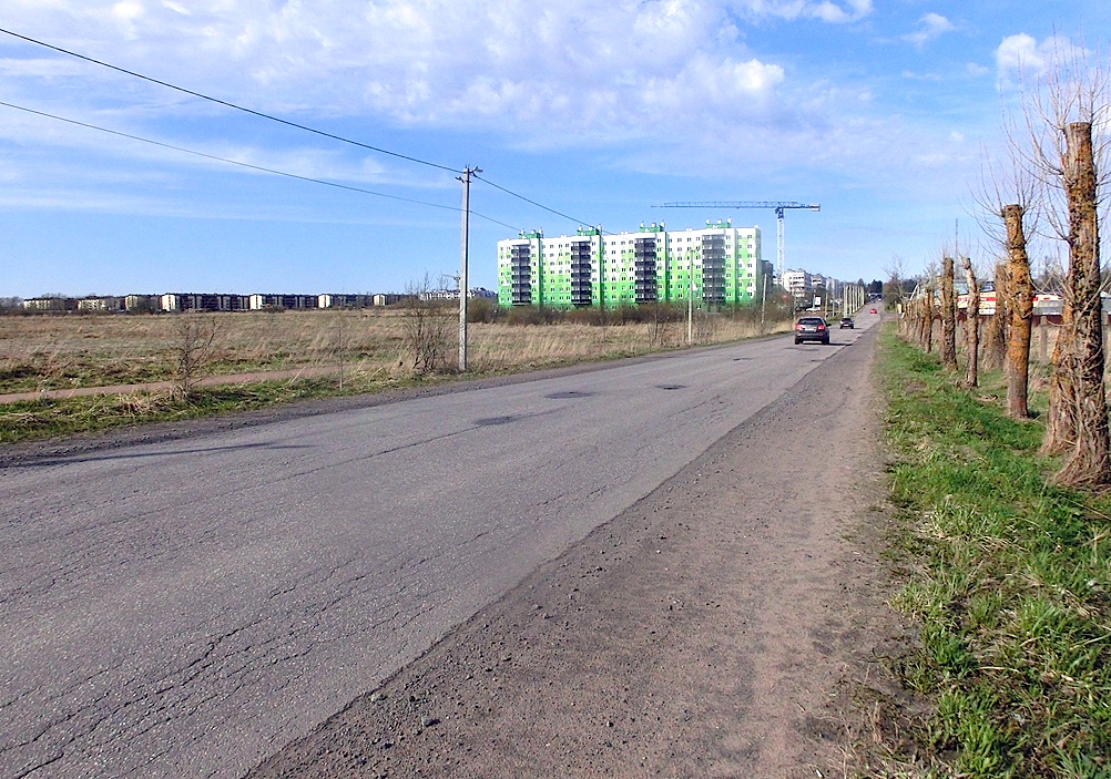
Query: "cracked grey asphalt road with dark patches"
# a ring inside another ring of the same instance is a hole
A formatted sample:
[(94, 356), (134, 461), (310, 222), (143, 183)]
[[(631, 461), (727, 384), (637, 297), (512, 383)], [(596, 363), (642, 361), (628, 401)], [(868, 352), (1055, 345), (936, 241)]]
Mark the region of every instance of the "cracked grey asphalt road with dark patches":
[(0, 469), (0, 776), (242, 776), (859, 334)]

